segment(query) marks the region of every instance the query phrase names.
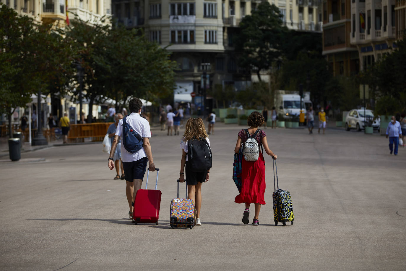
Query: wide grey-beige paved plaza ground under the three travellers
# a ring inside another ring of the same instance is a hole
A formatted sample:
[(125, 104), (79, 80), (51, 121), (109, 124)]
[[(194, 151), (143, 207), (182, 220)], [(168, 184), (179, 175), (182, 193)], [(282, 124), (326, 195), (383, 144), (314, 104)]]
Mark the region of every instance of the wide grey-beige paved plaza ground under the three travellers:
[(113, 180), (99, 143), (24, 152), (18, 162), (0, 157), (0, 270), (405, 270), (406, 148), (390, 155), (377, 133), (268, 128), (294, 224), (274, 226), (267, 156), (267, 204), (259, 226), (244, 225), (231, 178), (242, 128), (216, 123), (203, 225), (192, 230), (169, 226), (180, 136), (159, 128), (151, 138), (160, 168), (159, 225), (128, 219), (125, 181)]

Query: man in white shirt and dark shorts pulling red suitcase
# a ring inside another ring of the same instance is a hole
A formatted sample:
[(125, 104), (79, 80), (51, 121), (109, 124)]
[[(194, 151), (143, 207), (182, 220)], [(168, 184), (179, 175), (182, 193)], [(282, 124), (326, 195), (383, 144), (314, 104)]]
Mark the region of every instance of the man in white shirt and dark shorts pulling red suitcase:
[[(138, 189), (141, 189), (141, 184), (147, 169), (147, 160), (149, 161), (149, 171), (155, 171), (151, 145), (149, 143), (151, 128), (149, 127), (149, 122), (140, 116), (142, 106), (143, 103), (140, 99), (134, 98), (130, 100), (128, 107), (131, 114), (127, 116), (126, 122), (130, 124), (134, 131), (143, 137), (143, 147), (138, 152), (132, 154), (131, 152), (127, 152), (124, 144), (121, 144), (121, 162), (123, 163), (125, 182), (127, 184), (125, 195), (127, 196), (128, 205), (130, 206), (130, 212), (128, 212), (130, 218), (132, 218), (132, 212), (134, 211), (135, 194)], [(122, 134), (123, 119), (121, 119), (117, 125), (116, 134), (110, 150), (110, 157), (108, 158), (108, 167), (111, 170), (114, 169), (113, 156)]]

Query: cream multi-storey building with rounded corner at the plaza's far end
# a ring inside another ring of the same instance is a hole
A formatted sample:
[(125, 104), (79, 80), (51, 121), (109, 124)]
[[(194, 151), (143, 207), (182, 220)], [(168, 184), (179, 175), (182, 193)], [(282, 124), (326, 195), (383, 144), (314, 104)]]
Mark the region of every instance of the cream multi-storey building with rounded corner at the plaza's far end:
[[(168, 46), (179, 64), (175, 93), (182, 99), (214, 85), (245, 89), (255, 75), (238, 67), (233, 37), (257, 0), (112, 0), (112, 13), (128, 28), (142, 27), (150, 41)], [(270, 0), (288, 28), (321, 33), (317, 0)], [(320, 14), (319, 14), (320, 13)], [(203, 76), (205, 77), (203, 80)], [(269, 80), (266, 74), (261, 77)], [(176, 98), (175, 98), (176, 100)], [(189, 98), (191, 100), (191, 98)]]

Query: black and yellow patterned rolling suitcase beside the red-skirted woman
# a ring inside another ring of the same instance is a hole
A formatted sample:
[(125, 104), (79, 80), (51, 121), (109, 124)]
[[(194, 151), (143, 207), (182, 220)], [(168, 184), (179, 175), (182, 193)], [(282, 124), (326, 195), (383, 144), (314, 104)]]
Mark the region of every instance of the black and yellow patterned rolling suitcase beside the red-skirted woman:
[[(279, 189), (278, 182), (278, 169), (276, 169), (276, 160), (272, 160), (272, 165), (274, 165), (274, 193), (272, 193), (272, 200), (274, 206), (274, 221), (275, 226), (278, 222), (282, 222), (286, 225), (289, 222), (293, 225), (293, 207), (292, 198), (290, 197), (289, 191)], [(275, 187), (275, 169), (276, 169), (276, 184), (278, 185), (278, 190)]]

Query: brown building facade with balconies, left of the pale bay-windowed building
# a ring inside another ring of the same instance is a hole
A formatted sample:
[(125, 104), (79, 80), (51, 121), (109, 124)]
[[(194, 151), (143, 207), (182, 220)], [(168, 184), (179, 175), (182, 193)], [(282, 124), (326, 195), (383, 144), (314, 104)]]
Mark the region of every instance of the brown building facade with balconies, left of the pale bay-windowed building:
[(323, 55), (334, 75), (351, 76), (359, 72), (356, 46), (350, 42), (351, 0), (323, 2)]

